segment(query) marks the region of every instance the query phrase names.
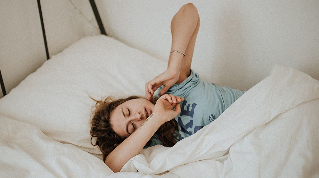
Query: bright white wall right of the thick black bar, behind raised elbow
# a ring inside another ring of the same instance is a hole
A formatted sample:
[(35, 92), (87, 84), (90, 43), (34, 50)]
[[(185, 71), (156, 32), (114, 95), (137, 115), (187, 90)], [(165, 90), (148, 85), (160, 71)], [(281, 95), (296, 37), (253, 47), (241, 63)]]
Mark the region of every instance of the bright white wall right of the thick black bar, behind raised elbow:
[[(99, 1), (107, 33), (167, 60), (170, 22), (189, 1)], [(192, 68), (212, 83), (248, 90), (275, 64), (319, 80), (319, 1), (190, 1), (201, 26)], [(156, 67), (156, 66), (154, 66)]]

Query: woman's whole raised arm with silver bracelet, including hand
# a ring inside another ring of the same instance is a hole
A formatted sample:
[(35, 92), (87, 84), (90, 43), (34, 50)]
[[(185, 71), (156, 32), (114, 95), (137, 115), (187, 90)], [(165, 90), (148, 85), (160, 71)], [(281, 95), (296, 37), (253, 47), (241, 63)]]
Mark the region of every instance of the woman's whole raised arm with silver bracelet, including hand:
[(151, 100), (154, 91), (161, 85), (165, 87), (159, 92), (163, 95), (175, 83), (181, 83), (190, 75), (190, 66), (200, 19), (197, 8), (192, 3), (187, 3), (174, 15), (171, 22), (172, 52), (169, 55), (167, 70), (152, 79), (145, 85), (145, 95)]

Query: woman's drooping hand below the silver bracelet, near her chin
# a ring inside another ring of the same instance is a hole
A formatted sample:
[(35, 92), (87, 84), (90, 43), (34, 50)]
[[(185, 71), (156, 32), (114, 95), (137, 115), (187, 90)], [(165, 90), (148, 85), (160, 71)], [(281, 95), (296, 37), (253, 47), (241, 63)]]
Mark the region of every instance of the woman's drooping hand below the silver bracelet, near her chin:
[(154, 91), (160, 86), (164, 85), (159, 95), (163, 95), (167, 90), (173, 86), (179, 79), (180, 70), (167, 69), (159, 76), (155, 77), (151, 81), (145, 84), (145, 96), (148, 100), (152, 100)]

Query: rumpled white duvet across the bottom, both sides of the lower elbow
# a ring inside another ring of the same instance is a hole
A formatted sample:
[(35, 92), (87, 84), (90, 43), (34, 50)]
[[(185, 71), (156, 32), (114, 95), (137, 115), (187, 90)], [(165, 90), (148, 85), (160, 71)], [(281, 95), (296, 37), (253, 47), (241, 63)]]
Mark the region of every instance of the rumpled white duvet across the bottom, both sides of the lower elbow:
[(116, 174), (36, 126), (0, 120), (0, 177), (319, 177), (319, 81), (278, 65), (217, 120)]

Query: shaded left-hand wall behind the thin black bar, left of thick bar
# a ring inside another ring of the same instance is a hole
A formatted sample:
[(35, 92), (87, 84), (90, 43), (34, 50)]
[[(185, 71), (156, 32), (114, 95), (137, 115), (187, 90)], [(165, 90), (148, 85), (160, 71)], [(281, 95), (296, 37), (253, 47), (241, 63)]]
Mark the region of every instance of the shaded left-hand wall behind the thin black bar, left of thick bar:
[[(88, 0), (41, 0), (41, 8), (50, 57), (100, 33)], [(0, 69), (6, 92), (45, 61), (37, 1), (0, 0)]]

